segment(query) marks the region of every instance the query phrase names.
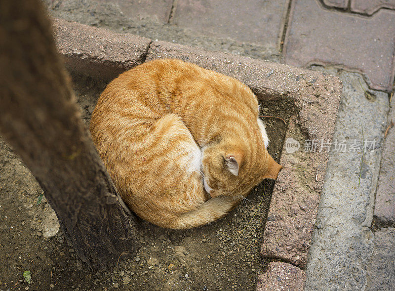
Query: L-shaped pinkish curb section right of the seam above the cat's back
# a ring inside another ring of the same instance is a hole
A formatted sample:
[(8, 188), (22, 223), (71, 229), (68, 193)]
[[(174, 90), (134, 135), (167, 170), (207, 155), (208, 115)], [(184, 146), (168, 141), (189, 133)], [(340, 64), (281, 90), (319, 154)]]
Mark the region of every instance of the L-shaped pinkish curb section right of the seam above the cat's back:
[[(183, 59), (235, 77), (249, 85), (261, 100), (292, 102), (298, 115), (290, 119), (286, 138), (301, 138), (307, 134), (310, 139), (331, 141), (341, 94), (338, 80), (262, 60), (205, 52), (169, 42), (153, 42), (147, 61), (163, 57)], [(328, 152), (284, 153), (285, 150), (280, 158), (283, 169), (273, 190), (261, 253), (304, 267)]]

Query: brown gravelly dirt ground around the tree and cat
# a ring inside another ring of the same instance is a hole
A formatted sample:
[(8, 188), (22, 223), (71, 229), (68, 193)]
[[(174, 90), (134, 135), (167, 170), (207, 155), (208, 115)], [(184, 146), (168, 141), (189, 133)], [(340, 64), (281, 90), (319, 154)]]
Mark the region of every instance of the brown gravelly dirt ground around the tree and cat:
[[(105, 83), (82, 76), (73, 81), (88, 124)], [(286, 119), (290, 111), (282, 107), (265, 102), (262, 114)], [(269, 152), (278, 162), (286, 126), (273, 118), (265, 122)], [(259, 249), (272, 187), (269, 181), (265, 191), (259, 185), (224, 219), (204, 227), (174, 231), (141, 221), (144, 239), (135, 256), (96, 272), (84, 266), (61, 231), (50, 237), (57, 230), (53, 210), (0, 138), (0, 290), (253, 290), (268, 263)], [(24, 271), (31, 272), (30, 284)]]

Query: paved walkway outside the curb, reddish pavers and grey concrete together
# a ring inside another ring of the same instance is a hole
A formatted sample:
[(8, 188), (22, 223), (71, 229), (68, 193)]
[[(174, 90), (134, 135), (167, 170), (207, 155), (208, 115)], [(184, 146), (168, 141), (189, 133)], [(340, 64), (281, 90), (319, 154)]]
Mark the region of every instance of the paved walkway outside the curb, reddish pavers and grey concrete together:
[(375, 145), (363, 155), (332, 145), (305, 289), (394, 288), (395, 0), (46, 3), (55, 17), (338, 76), (344, 89), (334, 139)]

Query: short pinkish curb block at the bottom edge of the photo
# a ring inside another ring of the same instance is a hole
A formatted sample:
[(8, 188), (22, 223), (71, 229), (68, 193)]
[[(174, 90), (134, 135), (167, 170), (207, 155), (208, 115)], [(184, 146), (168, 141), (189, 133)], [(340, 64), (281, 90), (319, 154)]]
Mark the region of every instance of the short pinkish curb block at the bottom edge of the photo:
[(266, 274), (258, 275), (256, 291), (303, 291), (306, 272), (288, 263), (270, 262)]

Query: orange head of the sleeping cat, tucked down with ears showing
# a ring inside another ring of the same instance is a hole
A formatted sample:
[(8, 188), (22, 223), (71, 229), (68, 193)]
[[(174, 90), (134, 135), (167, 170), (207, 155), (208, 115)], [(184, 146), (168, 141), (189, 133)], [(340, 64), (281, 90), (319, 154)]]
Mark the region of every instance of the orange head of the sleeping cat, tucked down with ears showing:
[(204, 189), (211, 197), (245, 196), (265, 178), (276, 179), (281, 166), (266, 148), (251, 153), (242, 145), (219, 143), (203, 148)]

